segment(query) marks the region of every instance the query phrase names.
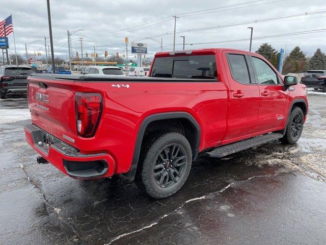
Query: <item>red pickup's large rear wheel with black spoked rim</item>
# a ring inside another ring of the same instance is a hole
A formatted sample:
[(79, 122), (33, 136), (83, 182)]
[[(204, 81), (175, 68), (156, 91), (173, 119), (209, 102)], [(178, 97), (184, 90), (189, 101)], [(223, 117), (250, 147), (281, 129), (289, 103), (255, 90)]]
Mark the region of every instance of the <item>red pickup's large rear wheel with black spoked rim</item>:
[(142, 146), (134, 181), (151, 197), (166, 198), (182, 187), (191, 165), (191, 146), (182, 134), (156, 134)]

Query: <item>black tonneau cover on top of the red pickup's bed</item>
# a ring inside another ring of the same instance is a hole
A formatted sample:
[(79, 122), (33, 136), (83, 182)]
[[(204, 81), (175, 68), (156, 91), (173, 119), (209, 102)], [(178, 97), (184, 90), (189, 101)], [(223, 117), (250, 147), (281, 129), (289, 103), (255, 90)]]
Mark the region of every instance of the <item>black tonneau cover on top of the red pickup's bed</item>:
[(33, 73), (30, 77), (45, 78), (45, 79), (64, 79), (72, 81), (122, 81), (122, 82), (216, 82), (216, 79), (187, 79), (187, 78), (152, 78), (152, 77), (122, 77), (122, 76), (105, 76), (105, 75), (67, 75), (67, 74), (36, 74)]

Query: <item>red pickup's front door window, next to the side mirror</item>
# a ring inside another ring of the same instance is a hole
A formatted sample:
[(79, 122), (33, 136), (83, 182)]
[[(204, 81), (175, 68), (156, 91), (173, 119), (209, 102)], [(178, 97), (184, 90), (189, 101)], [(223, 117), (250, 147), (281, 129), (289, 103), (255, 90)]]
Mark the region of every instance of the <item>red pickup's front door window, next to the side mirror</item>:
[(252, 59), (257, 72), (258, 84), (278, 84), (275, 71), (267, 63), (253, 56)]

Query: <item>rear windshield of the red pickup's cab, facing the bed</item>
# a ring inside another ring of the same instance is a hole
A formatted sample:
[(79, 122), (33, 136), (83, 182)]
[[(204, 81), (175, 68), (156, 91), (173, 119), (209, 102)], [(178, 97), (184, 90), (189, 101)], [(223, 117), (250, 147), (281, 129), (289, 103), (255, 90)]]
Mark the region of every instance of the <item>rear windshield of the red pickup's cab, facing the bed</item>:
[(217, 79), (214, 55), (155, 58), (151, 77)]

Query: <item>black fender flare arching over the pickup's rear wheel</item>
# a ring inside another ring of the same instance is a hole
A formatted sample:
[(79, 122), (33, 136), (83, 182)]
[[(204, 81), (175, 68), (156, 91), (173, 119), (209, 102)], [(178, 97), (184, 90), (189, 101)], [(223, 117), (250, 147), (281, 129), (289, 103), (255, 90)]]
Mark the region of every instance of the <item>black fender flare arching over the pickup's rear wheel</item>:
[(141, 152), (142, 141), (147, 126), (153, 121), (165, 120), (165, 119), (178, 119), (178, 118), (187, 119), (189, 122), (191, 122), (191, 124), (193, 124), (194, 128), (196, 129), (196, 146), (194, 149), (192, 149), (193, 161), (196, 160), (199, 153), (199, 145), (200, 145), (200, 137), (201, 137), (201, 130), (197, 120), (187, 112), (166, 112), (166, 113), (152, 114), (147, 116), (141, 122), (141, 126), (138, 130), (137, 139), (134, 145), (130, 170), (124, 174), (129, 180), (133, 181), (134, 176), (136, 174), (138, 160)]

